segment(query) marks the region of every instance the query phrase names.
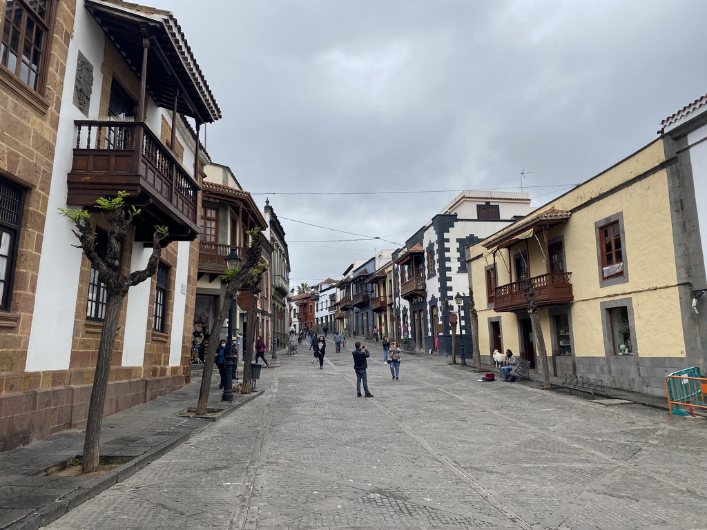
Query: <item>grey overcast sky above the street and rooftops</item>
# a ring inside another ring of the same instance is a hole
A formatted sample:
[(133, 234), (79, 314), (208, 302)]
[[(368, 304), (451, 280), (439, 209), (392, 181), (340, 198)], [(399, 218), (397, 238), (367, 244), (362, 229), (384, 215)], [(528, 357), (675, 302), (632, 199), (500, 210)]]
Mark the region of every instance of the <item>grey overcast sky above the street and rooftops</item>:
[(293, 286), (398, 246), (294, 221), (402, 245), (462, 189), (520, 191), (524, 169), (542, 206), (707, 93), (700, 0), (144, 4), (182, 26), (223, 113), (206, 149), (269, 198)]

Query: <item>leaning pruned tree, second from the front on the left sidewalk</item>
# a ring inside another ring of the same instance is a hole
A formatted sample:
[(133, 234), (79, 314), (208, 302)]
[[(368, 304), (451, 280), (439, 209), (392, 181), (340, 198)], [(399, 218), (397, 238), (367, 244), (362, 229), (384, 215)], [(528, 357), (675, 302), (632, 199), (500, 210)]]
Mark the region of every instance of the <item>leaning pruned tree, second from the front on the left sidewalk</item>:
[[(223, 322), (226, 322), (228, 316), (228, 308), (235, 298), (235, 295), (243, 287), (252, 287), (260, 283), (260, 278), (267, 271), (268, 265), (262, 261), (262, 242), (264, 237), (259, 228), (249, 230), (250, 245), (245, 250), (245, 262), (243, 266), (229, 268), (226, 273), (223, 273), (221, 279), (227, 281), (226, 292), (223, 295), (221, 308), (218, 310), (218, 315), (211, 324), (211, 337), (218, 337), (223, 329)], [(230, 337), (228, 338), (228, 347), (230, 348)], [(214, 374), (214, 356), (218, 351), (218, 341), (210, 340), (209, 348), (206, 349), (206, 357), (204, 358), (204, 372), (201, 376), (201, 387), (199, 387), (199, 401), (197, 402), (197, 414), (206, 414), (209, 405), (209, 388), (211, 387), (211, 377)], [(247, 363), (246, 363), (247, 364)], [(248, 365), (250, 368), (250, 365)], [(243, 376), (245, 382), (245, 374)], [(248, 390), (242, 389), (245, 393)]]

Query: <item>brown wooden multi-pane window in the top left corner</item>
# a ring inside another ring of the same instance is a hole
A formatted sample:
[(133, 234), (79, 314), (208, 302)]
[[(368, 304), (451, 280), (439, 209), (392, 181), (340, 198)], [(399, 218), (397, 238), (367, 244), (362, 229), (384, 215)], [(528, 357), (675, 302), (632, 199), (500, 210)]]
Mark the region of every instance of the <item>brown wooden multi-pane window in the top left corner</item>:
[(49, 63), (54, 0), (7, 0), (0, 63), (39, 92)]

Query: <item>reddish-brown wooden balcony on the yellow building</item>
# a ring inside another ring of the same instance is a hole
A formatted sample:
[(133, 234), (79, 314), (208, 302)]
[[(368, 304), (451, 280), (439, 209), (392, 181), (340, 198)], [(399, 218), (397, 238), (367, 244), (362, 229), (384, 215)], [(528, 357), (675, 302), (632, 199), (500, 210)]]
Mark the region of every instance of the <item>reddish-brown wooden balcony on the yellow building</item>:
[[(569, 272), (553, 272), (530, 278), (537, 305), (568, 304), (574, 300)], [(496, 288), (493, 310), (496, 312), (527, 309), (522, 282), (515, 281)]]

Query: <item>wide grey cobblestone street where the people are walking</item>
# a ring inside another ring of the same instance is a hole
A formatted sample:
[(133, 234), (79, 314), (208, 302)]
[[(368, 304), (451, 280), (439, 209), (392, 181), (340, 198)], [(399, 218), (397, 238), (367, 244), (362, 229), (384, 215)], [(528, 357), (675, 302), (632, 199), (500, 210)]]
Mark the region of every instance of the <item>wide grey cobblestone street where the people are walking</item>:
[(366, 399), (348, 351), (281, 355), (264, 396), (49, 528), (707, 529), (706, 421), (381, 357)]

